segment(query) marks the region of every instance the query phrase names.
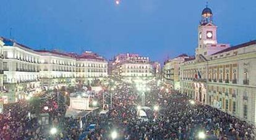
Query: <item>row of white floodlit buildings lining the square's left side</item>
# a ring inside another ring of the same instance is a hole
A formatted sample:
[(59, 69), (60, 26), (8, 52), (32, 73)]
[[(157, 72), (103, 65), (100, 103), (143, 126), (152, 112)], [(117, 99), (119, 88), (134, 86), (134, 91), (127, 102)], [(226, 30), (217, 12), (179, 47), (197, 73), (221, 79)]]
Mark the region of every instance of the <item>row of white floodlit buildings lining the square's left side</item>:
[(93, 52), (33, 50), (6, 38), (0, 38), (0, 52), (0, 97), (5, 103), (108, 76), (108, 62)]

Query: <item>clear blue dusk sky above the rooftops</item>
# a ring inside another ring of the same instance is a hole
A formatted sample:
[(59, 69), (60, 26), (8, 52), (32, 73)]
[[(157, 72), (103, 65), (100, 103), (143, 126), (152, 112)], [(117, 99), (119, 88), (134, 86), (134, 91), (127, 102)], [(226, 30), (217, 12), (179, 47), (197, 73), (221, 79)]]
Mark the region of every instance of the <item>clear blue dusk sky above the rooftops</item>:
[[(33, 49), (93, 51), (106, 59), (136, 52), (163, 62), (194, 55), (206, 1), (1, 0), (0, 36)], [(256, 39), (256, 1), (211, 0), (218, 42)]]

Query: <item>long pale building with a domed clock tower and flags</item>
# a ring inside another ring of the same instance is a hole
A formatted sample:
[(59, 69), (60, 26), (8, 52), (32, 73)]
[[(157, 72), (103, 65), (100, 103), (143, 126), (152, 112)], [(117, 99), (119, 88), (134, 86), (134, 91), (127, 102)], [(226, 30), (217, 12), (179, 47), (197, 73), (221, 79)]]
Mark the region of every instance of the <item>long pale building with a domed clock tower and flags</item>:
[(256, 122), (256, 41), (218, 44), (206, 7), (198, 27), (195, 58), (181, 65), (181, 93), (250, 123)]

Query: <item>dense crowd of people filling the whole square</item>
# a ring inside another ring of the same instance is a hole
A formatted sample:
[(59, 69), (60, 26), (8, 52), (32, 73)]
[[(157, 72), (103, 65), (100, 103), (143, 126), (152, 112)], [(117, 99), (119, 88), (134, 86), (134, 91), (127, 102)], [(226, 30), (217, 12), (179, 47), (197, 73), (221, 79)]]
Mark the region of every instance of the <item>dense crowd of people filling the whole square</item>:
[[(239, 120), (228, 113), (200, 103), (190, 104), (187, 96), (168, 88), (156, 81), (147, 84), (150, 91), (145, 93), (145, 106), (150, 107), (151, 117), (145, 121), (138, 117), (137, 109), (142, 105), (141, 92), (134, 83), (119, 83), (113, 91), (113, 105), (109, 107), (108, 117), (90, 113), (86, 117), (66, 117), (65, 109), (58, 109), (56, 97), (43, 103), (50, 107), (52, 126), (58, 133), (51, 136), (38, 126), (36, 118), (28, 117), (31, 107), (25, 101), (8, 104), (0, 115), (0, 138), (9, 139), (111, 139), (116, 131), (116, 139), (198, 139), (198, 133), (205, 133), (206, 139), (254, 139), (254, 126)], [(161, 88), (160, 88), (161, 87)], [(95, 94), (100, 103), (102, 93)], [(153, 106), (158, 106), (154, 110)], [(46, 110), (45, 110), (46, 111)], [(45, 112), (42, 111), (42, 112)], [(147, 112), (148, 116), (150, 112)], [(63, 119), (54, 121), (54, 116)], [(148, 117), (149, 118), (149, 117)], [(82, 128), (80, 128), (82, 121)], [(88, 126), (95, 124), (95, 129)]]

